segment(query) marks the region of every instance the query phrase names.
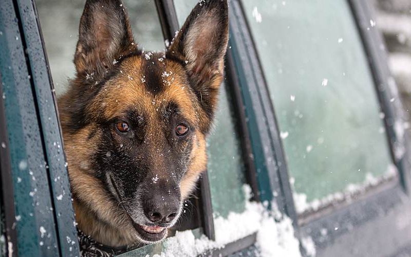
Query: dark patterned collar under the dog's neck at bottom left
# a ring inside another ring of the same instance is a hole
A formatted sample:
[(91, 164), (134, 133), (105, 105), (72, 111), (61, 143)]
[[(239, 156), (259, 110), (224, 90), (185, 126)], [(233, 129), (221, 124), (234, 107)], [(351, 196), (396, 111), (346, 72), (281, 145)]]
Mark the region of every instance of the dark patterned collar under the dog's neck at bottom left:
[(80, 256), (83, 257), (110, 257), (124, 253), (128, 250), (126, 246), (124, 247), (111, 247), (103, 245), (89, 235), (86, 235), (80, 229), (77, 229), (77, 237), (80, 244)]

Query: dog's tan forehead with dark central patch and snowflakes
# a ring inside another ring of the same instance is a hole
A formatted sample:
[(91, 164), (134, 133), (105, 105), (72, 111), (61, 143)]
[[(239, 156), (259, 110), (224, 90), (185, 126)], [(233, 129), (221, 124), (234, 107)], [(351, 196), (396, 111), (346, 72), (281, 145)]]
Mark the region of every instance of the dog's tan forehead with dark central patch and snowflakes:
[(183, 67), (160, 53), (143, 53), (125, 59), (115, 76), (106, 82), (92, 108), (113, 119), (130, 110), (159, 116), (172, 104), (186, 119), (198, 122), (197, 100)]

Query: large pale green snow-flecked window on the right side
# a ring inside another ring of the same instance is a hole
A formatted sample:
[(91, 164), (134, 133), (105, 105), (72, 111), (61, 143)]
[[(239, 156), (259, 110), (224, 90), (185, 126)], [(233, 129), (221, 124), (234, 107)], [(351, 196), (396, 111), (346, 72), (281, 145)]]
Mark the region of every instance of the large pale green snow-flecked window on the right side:
[(242, 3), (277, 115), (297, 211), (395, 176), (384, 114), (348, 2)]

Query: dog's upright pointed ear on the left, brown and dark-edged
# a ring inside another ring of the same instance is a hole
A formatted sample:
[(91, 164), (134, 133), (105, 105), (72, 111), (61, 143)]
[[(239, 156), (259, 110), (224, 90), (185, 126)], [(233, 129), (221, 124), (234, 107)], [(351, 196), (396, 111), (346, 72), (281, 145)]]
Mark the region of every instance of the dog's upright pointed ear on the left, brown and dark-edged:
[(80, 20), (74, 65), (79, 76), (104, 78), (137, 45), (121, 0), (87, 0)]

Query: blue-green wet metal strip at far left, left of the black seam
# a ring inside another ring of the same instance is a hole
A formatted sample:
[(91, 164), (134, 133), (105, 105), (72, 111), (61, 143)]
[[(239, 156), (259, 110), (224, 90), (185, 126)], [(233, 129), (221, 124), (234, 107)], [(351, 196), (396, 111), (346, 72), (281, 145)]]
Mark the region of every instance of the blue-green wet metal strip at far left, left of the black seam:
[[(59, 256), (43, 135), (16, 2), (0, 7), (0, 73), (19, 255)], [(44, 233), (47, 231), (47, 234)]]

